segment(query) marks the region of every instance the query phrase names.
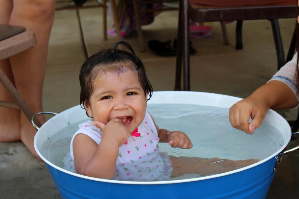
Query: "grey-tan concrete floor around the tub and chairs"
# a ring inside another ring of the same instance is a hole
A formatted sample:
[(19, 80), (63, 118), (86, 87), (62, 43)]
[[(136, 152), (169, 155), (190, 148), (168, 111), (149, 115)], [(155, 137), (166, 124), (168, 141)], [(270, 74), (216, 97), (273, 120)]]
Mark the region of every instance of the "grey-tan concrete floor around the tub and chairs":
[[(111, 48), (116, 39), (102, 39), (102, 9), (80, 11), (88, 55)], [(177, 11), (162, 12), (151, 25), (143, 26), (145, 42), (177, 37)], [(285, 54), (295, 19), (279, 20)], [(244, 98), (266, 83), (277, 70), (271, 24), (267, 20), (245, 21), (243, 50), (235, 50), (235, 22), (227, 24), (230, 45), (223, 45), (221, 27), (213, 24), (212, 35), (192, 39), (197, 53), (191, 57), (191, 90)], [(111, 21), (108, 19), (108, 27)], [(175, 57), (158, 57), (148, 48), (138, 51), (137, 32), (127, 39), (143, 61), (154, 90), (173, 90)], [(59, 113), (79, 104), (80, 66), (85, 60), (78, 19), (73, 10), (57, 11), (50, 37), (45, 72), (43, 104), (45, 111)], [(159, 72), (157, 72), (159, 71)], [(280, 111), (294, 119), (297, 110)], [(298, 144), (297, 140), (290, 147)], [(299, 195), (299, 152), (290, 154), (279, 165), (267, 198), (297, 198)], [(60, 198), (44, 163), (34, 158), (21, 142), (0, 143), (0, 198)]]

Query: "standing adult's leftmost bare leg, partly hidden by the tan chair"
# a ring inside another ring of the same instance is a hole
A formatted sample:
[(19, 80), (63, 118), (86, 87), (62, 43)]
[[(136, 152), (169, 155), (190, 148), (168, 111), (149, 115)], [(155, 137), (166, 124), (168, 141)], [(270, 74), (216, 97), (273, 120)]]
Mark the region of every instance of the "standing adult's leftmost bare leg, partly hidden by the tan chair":
[[(0, 1), (0, 23), (8, 24), (12, 12), (12, 0)], [(0, 61), (2, 71), (9, 80), (14, 83), (14, 77), (9, 59)], [(5, 88), (0, 84), (0, 100), (14, 102)], [(21, 120), (20, 110), (0, 107), (0, 141), (19, 141), (21, 140)]]

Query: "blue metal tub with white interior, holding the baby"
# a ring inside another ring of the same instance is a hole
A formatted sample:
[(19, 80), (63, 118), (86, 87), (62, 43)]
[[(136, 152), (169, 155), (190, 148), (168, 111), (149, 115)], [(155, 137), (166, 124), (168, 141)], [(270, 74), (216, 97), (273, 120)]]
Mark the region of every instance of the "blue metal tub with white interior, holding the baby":
[[(149, 104), (199, 104), (230, 107), (240, 98), (202, 92), (159, 91)], [(80, 105), (67, 109), (47, 121), (36, 133), (34, 146), (45, 161), (62, 198), (265, 198), (272, 182), (282, 150), (291, 138), (287, 121), (269, 110), (265, 121), (281, 133), (284, 145), (273, 155), (247, 167), (201, 178), (160, 181), (129, 182), (92, 178), (64, 170), (47, 160), (40, 153), (41, 145), (70, 123), (86, 119)]]

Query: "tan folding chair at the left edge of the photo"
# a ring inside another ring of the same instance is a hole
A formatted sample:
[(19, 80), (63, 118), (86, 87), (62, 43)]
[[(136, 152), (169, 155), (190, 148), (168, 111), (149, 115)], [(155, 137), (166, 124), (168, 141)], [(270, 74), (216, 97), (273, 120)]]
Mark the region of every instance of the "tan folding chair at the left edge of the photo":
[[(0, 61), (9, 58), (15, 54), (21, 53), (36, 45), (36, 37), (32, 30), (25, 29), (20, 26), (11, 26), (0, 24)], [(0, 82), (16, 102), (9, 103), (0, 101), (0, 106), (21, 109), (26, 117), (31, 121), (33, 112), (21, 97), (15, 86), (7, 78), (0, 68)], [(40, 122), (35, 118), (35, 123), (41, 126)]]

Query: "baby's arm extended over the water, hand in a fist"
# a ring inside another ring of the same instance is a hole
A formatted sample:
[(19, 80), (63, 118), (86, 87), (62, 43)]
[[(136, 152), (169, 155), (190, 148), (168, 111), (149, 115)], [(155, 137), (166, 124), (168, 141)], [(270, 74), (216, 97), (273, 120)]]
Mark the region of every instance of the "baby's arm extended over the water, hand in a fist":
[[(154, 121), (153, 117), (152, 119)], [(178, 147), (181, 149), (192, 148), (192, 142), (185, 133), (180, 131), (168, 131), (166, 129), (159, 129), (155, 121), (154, 124), (157, 128), (158, 137), (160, 139), (159, 142), (168, 142), (168, 144), (171, 145), (171, 147)]]

